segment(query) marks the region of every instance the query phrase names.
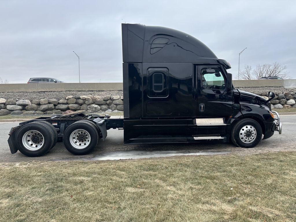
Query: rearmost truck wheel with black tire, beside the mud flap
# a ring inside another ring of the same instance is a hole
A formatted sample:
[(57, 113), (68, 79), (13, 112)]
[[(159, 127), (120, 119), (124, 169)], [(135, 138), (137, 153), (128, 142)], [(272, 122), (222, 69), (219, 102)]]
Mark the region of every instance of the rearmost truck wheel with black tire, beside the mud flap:
[(28, 123), (22, 126), (16, 134), (17, 149), (28, 157), (44, 155), (53, 143), (54, 133), (52, 128), (45, 123)]

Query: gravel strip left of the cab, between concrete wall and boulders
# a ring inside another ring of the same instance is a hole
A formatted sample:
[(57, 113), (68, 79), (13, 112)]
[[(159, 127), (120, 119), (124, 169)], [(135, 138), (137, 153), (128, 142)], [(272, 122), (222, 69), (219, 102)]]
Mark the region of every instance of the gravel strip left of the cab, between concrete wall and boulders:
[(46, 91), (46, 92), (0, 92), (0, 98), (14, 99), (65, 99), (66, 96), (123, 96), (123, 91)]

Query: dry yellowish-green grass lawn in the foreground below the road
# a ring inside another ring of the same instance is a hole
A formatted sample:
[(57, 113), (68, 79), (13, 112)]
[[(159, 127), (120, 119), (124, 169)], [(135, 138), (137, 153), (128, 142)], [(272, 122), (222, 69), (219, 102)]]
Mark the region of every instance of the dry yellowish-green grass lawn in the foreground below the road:
[(295, 221), (296, 152), (2, 163), (0, 221)]

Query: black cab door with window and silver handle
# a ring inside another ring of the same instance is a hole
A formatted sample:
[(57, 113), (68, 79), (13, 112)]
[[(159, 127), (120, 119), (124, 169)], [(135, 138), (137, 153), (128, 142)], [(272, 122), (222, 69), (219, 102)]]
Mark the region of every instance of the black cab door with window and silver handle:
[(232, 115), (232, 91), (226, 89), (226, 72), (220, 65), (197, 66), (197, 117)]

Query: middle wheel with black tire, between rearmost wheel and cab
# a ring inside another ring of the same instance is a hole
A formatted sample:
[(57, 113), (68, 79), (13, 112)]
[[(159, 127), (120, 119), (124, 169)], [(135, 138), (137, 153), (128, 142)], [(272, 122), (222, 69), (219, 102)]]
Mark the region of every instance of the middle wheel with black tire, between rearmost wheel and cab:
[(99, 133), (96, 127), (88, 121), (77, 121), (71, 124), (66, 128), (63, 136), (66, 149), (75, 155), (85, 155), (91, 152), (98, 140)]

